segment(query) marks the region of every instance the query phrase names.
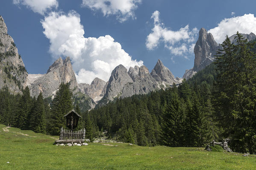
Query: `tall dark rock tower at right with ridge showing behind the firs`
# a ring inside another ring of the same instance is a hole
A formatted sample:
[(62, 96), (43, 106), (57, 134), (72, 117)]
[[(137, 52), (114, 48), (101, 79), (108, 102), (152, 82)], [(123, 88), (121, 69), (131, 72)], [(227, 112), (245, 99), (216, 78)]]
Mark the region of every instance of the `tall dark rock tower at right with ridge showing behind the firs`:
[[(241, 34), (244, 38), (247, 38), (248, 41), (256, 39), (256, 35), (253, 33), (250, 34)], [(235, 35), (232, 35), (230, 41), (235, 42)], [(198, 71), (205, 68), (207, 65), (212, 63), (215, 59), (215, 54), (218, 49), (221, 48), (221, 45), (218, 44), (211, 33), (207, 33), (205, 28), (201, 28), (199, 31), (199, 37), (194, 47), (194, 67), (186, 70), (182, 78), (189, 79), (194, 76)]]

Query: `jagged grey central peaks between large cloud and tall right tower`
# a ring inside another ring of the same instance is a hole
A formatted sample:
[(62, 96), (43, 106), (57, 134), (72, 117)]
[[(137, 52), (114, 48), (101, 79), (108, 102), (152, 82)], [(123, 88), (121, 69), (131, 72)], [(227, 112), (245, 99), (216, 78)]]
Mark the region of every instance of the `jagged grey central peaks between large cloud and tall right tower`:
[(99, 105), (106, 104), (116, 97), (129, 97), (135, 94), (147, 94), (160, 88), (170, 87), (173, 83), (181, 83), (182, 79), (175, 78), (171, 71), (158, 60), (151, 71), (144, 65), (130, 67), (129, 71), (123, 65), (118, 65), (109, 78), (106, 93)]

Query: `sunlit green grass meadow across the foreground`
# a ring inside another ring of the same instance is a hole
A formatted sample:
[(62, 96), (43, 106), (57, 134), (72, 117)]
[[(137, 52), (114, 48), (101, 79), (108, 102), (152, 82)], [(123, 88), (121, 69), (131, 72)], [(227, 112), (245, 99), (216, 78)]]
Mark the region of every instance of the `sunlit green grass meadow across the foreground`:
[[(256, 156), (203, 148), (140, 147), (127, 143), (53, 145), (58, 136), (0, 125), (0, 170), (238, 170), (256, 169)], [(27, 134), (25, 136), (23, 134)], [(6, 162), (10, 162), (9, 164)]]

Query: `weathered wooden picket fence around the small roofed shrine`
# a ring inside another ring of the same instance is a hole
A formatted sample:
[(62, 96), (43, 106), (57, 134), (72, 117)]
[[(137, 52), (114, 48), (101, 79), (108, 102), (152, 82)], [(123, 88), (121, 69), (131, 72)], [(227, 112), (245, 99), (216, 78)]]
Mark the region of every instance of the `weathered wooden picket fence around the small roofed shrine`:
[(85, 128), (77, 131), (63, 129), (60, 130), (59, 140), (85, 140)]

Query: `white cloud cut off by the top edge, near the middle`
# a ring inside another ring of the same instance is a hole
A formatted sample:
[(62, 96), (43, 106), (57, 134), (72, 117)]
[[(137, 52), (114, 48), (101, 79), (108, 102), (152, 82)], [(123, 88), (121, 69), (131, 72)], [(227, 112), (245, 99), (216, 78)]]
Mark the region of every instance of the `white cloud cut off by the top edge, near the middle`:
[(91, 10), (101, 10), (104, 16), (117, 15), (120, 22), (135, 18), (134, 10), (141, 0), (82, 0), (82, 6)]

